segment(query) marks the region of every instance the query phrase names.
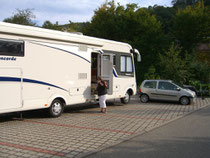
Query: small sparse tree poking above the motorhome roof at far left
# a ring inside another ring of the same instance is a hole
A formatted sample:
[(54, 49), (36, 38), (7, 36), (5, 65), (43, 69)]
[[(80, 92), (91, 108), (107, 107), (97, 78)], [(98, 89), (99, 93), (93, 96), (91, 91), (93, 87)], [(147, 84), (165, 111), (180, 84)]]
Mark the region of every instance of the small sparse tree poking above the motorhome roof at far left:
[(35, 26), (36, 23), (33, 21), (35, 18), (32, 9), (16, 9), (14, 16), (4, 19), (4, 22)]

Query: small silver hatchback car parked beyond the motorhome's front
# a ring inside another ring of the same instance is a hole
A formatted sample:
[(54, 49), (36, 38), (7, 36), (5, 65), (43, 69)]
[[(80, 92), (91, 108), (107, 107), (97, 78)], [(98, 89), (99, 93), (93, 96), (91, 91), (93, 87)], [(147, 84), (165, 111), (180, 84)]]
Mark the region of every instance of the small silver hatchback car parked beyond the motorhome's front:
[(184, 89), (170, 80), (144, 80), (139, 89), (141, 102), (151, 100), (179, 101), (188, 105), (195, 101), (195, 92)]

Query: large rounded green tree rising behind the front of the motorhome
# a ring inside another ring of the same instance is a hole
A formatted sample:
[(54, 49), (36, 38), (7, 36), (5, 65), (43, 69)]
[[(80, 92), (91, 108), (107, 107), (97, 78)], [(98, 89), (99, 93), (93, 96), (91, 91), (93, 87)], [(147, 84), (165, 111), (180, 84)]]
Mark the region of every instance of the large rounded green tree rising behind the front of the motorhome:
[(144, 79), (151, 65), (159, 72), (158, 54), (168, 43), (161, 23), (148, 9), (137, 4), (115, 5), (114, 1), (106, 2), (95, 11), (84, 34), (126, 42), (140, 50), (143, 61), (136, 64), (138, 82)]

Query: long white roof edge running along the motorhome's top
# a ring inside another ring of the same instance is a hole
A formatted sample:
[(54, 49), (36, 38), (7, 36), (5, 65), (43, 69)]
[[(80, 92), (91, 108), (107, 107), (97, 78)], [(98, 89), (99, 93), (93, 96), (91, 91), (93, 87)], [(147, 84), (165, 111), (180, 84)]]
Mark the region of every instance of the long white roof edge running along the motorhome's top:
[(131, 46), (127, 43), (117, 42), (112, 40), (106, 40), (96, 37), (90, 37), (85, 35), (78, 35), (69, 32), (61, 32), (56, 30), (49, 30), (34, 26), (25, 26), (18, 24), (10, 24), (5, 22), (0, 22), (0, 33), (7, 33), (13, 35), (21, 35), (27, 37), (35, 37), (35, 38), (43, 38), (43, 39), (52, 39), (52, 40), (60, 40), (66, 42), (87, 44), (87, 45), (95, 45), (98, 47), (104, 46), (107, 44), (117, 44), (124, 47)]

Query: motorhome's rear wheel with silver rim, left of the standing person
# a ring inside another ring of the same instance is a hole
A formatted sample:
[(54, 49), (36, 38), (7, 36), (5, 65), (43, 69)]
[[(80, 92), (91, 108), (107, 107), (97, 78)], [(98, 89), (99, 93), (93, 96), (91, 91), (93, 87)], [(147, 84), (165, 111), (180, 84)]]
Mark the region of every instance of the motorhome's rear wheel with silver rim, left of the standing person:
[(63, 109), (64, 103), (55, 99), (49, 108), (49, 114), (51, 117), (59, 117), (63, 113)]

